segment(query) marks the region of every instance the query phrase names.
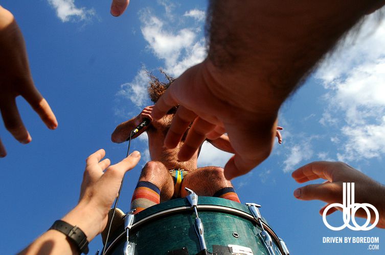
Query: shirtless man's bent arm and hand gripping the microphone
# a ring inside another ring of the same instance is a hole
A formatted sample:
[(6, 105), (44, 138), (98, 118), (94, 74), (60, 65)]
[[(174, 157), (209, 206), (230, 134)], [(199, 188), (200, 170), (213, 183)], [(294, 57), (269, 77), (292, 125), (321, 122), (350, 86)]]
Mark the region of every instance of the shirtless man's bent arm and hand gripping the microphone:
[[(115, 131), (111, 135), (112, 142), (115, 143), (122, 143), (127, 141), (129, 138), (131, 131), (137, 127), (145, 118), (148, 118), (150, 121), (152, 121), (151, 117), (151, 111), (153, 106), (148, 106), (143, 109), (143, 111), (137, 116), (130, 120), (127, 120), (123, 123), (120, 123), (116, 128)], [(141, 135), (143, 132), (145, 132), (147, 127), (143, 127), (142, 130), (140, 130), (137, 134), (135, 134), (132, 138), (137, 138), (139, 135)]]

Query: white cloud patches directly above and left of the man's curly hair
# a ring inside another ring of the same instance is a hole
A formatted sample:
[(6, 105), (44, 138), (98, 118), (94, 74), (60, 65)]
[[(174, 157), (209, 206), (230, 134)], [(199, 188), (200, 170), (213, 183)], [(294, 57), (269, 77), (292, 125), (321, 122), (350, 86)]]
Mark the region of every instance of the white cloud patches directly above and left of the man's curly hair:
[[(187, 27), (185, 22), (175, 24), (172, 15), (175, 6), (170, 5), (169, 1), (157, 1), (157, 3), (165, 7), (167, 19), (163, 20), (155, 16), (149, 8), (143, 9), (139, 12), (141, 31), (148, 42), (147, 49), (157, 59), (164, 61), (165, 67), (162, 69), (168, 75), (178, 77), (187, 68), (206, 58), (205, 39), (199, 34), (203, 22), (196, 22), (190, 27)], [(194, 9), (186, 12), (181, 18), (187, 20), (192, 16), (202, 21), (199, 19), (199, 15), (202, 14), (204, 15), (205, 12)], [(181, 27), (181, 24), (185, 27)], [(148, 76), (140, 70), (132, 82), (121, 85), (122, 89), (118, 95), (130, 99), (138, 108), (143, 108), (149, 102), (148, 81)], [(118, 115), (124, 112), (126, 111), (116, 110)]]

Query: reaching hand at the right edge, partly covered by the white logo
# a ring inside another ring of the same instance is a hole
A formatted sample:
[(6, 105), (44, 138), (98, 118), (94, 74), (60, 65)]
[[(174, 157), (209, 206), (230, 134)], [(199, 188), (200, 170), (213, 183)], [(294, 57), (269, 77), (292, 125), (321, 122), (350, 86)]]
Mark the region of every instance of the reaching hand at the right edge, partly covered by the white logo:
[[(291, 176), (298, 183), (305, 183), (316, 179), (327, 180), (323, 184), (310, 184), (298, 188), (294, 192), (294, 196), (300, 200), (322, 200), (328, 204), (320, 210), (323, 215), (325, 208), (331, 203), (342, 203), (343, 201), (343, 183), (355, 183), (355, 199), (356, 203), (370, 203), (379, 213), (379, 221), (377, 227), (385, 228), (385, 186), (371, 179), (369, 176), (350, 167), (342, 162), (318, 161), (300, 167), (292, 172)], [(331, 208), (327, 215), (340, 210), (342, 208)], [(364, 210), (358, 210), (355, 214), (358, 217), (367, 218)], [(371, 212), (371, 215), (374, 215)], [(371, 217), (373, 223), (375, 217)]]

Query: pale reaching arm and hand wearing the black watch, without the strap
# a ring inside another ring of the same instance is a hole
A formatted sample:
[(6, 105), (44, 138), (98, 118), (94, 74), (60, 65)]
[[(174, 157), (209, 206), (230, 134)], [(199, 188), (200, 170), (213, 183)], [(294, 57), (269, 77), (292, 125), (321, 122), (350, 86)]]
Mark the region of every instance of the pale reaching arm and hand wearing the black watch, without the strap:
[[(134, 151), (121, 162), (110, 166), (103, 149), (90, 155), (86, 161), (78, 205), (62, 220), (78, 226), (90, 242), (107, 224), (108, 212), (114, 202), (123, 175), (140, 160), (139, 151)], [(102, 161), (101, 161), (102, 160)], [(103, 172), (104, 171), (104, 172)], [(59, 231), (49, 230), (19, 253), (28, 255), (80, 254), (77, 247)]]

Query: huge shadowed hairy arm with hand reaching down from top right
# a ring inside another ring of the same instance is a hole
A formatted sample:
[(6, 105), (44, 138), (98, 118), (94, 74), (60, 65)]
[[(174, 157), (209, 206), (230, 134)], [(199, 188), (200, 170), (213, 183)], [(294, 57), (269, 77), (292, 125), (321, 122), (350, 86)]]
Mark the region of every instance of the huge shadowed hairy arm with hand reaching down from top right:
[(160, 119), (180, 104), (165, 145), (175, 147), (195, 119), (180, 160), (191, 158), (213, 130), (221, 129), (235, 150), (225, 176), (250, 171), (271, 152), (283, 101), (346, 31), (383, 4), (212, 0), (208, 58), (176, 79), (152, 111)]

